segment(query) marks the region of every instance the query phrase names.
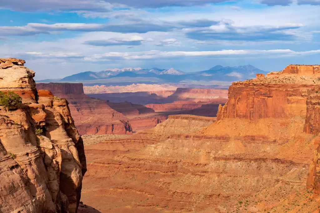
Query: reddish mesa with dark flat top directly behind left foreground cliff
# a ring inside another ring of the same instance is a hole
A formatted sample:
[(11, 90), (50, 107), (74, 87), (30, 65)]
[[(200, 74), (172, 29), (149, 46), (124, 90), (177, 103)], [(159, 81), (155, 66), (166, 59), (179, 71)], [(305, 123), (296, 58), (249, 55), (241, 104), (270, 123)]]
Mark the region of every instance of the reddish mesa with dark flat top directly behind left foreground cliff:
[(84, 94), (82, 83), (38, 83), (37, 89), (66, 98), (80, 134), (126, 134), (132, 132), (128, 119), (104, 101)]

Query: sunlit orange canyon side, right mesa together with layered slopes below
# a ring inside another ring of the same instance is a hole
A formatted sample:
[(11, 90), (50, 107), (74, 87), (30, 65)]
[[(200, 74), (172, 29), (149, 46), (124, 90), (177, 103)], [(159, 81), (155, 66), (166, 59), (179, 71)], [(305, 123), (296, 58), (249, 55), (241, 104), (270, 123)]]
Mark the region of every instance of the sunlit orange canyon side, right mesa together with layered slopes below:
[(217, 117), (84, 141), (82, 200), (101, 212), (319, 212), (318, 78), (289, 65), (233, 83)]

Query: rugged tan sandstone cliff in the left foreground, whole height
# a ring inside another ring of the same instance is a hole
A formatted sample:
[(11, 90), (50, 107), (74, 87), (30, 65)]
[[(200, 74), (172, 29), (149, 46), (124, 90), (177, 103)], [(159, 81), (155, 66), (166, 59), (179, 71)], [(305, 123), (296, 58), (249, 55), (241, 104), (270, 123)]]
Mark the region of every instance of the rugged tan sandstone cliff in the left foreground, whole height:
[(0, 212), (77, 212), (87, 169), (68, 102), (49, 91), (38, 96), (23, 60), (0, 62), (0, 91), (18, 91), (28, 103), (0, 106)]

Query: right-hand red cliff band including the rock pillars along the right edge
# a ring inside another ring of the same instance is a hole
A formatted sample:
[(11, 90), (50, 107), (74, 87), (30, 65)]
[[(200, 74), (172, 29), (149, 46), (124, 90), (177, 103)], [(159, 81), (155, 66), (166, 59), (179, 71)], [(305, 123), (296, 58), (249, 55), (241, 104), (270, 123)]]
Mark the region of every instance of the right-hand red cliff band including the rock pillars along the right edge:
[[(245, 118), (303, 119), (303, 131), (320, 133), (320, 71), (318, 65), (289, 65), (281, 72), (270, 72), (263, 77), (233, 83), (228, 101), (219, 107), (218, 120)], [(284, 121), (282, 121), (284, 122)], [(301, 128), (301, 127), (300, 127)], [(307, 187), (320, 193), (320, 143), (313, 140), (314, 153), (309, 166)]]

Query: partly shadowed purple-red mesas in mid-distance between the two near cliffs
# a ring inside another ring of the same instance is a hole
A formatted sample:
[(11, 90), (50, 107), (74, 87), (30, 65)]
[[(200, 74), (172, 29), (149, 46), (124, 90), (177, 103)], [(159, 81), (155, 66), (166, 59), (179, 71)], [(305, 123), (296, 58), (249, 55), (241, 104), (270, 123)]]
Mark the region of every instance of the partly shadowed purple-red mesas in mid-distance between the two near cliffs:
[[(150, 91), (86, 95), (82, 83), (37, 83), (36, 87), (68, 100), (81, 135), (132, 134), (155, 127), (171, 114), (215, 116), (219, 104), (227, 101), (222, 97), (228, 92), (178, 88), (176, 91), (159, 90), (156, 94)], [(156, 102), (166, 104), (142, 105), (153, 101), (150, 96), (155, 97)]]

